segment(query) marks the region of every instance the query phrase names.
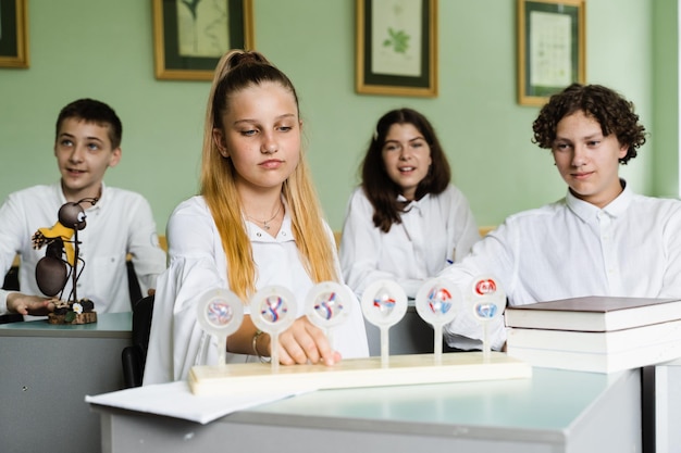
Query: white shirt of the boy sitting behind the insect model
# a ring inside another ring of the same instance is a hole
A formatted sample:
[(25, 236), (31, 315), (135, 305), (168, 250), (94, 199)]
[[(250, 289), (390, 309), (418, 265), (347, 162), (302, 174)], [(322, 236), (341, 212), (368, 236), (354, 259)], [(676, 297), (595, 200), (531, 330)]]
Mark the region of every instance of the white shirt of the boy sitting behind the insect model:
[[(64, 203), (66, 199), (58, 183), (11, 193), (0, 207), (0, 270), (2, 275), (7, 274), (15, 255), (21, 255), (18, 280), (22, 293), (44, 295), (35, 275), (46, 247), (34, 250), (32, 237), (38, 228), (54, 226), (59, 209)], [(79, 257), (85, 266), (78, 266), (83, 274), (78, 278), (76, 297), (90, 299), (98, 313), (129, 312), (126, 255), (131, 253), (133, 256), (143, 294), (156, 286), (157, 276), (165, 269), (165, 252), (159, 247), (151, 207), (139, 193), (102, 184), (99, 201), (88, 207), (85, 215), (85, 229), (77, 231)], [(69, 299), (72, 288), (69, 278), (63, 300)], [(0, 290), (0, 307), (4, 311), (10, 292)]]

